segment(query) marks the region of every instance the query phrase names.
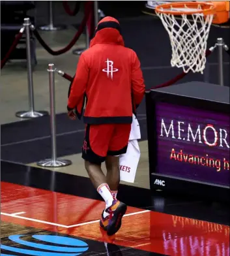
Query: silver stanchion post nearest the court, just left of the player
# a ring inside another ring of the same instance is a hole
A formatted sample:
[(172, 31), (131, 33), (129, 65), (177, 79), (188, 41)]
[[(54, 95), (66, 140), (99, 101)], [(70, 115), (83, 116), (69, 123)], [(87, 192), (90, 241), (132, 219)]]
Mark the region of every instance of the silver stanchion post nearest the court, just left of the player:
[(72, 162), (66, 159), (57, 159), (56, 118), (55, 118), (55, 69), (53, 64), (48, 65), (50, 84), (50, 128), (51, 128), (51, 159), (44, 159), (36, 163), (40, 167), (65, 167)]

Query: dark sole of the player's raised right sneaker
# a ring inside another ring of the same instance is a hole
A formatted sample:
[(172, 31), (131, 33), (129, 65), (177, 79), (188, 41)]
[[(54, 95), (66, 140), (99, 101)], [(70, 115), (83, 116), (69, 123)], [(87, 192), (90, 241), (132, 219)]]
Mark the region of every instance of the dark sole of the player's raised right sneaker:
[(122, 217), (126, 213), (126, 210), (127, 210), (126, 204), (124, 204), (123, 202), (120, 202), (119, 206), (113, 213), (113, 217), (112, 217), (109, 225), (107, 226), (108, 236), (112, 236), (117, 231), (119, 231), (119, 229), (121, 228)]

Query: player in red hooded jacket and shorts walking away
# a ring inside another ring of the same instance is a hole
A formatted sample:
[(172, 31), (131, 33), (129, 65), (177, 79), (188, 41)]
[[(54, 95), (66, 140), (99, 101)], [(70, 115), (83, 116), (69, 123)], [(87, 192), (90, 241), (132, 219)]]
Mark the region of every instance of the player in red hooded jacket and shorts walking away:
[[(79, 57), (67, 109), (70, 119), (75, 120), (76, 115), (80, 119), (87, 100), (82, 158), (89, 178), (106, 202), (100, 226), (109, 236), (120, 229), (127, 208), (117, 200), (119, 155), (126, 153), (132, 113), (144, 93), (136, 53), (124, 47), (119, 22), (115, 18), (103, 18), (96, 27), (90, 48)], [(101, 168), (104, 161), (106, 176)]]

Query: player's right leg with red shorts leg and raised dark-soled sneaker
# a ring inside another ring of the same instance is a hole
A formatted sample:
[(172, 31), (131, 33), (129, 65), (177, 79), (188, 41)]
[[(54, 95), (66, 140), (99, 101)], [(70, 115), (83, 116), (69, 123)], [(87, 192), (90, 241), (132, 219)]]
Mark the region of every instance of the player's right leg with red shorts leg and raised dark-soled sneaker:
[[(131, 124), (117, 124), (115, 125), (115, 131), (109, 141), (109, 151), (106, 157), (107, 169), (107, 182), (115, 191), (118, 189), (120, 181), (119, 170), (119, 157), (122, 153), (126, 153), (128, 146), (128, 138), (130, 136)], [(119, 200), (113, 200), (112, 206), (104, 211), (104, 217), (106, 213), (110, 214), (109, 223), (107, 226), (108, 235), (113, 235), (119, 231), (121, 227), (121, 219), (127, 209), (126, 204)]]

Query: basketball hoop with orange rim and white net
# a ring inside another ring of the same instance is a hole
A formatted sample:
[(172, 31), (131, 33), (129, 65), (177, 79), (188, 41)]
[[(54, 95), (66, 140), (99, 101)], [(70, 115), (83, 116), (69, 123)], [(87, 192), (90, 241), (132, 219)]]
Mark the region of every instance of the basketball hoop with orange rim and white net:
[(169, 34), (171, 66), (203, 74), (215, 6), (207, 2), (176, 2), (158, 5), (155, 11)]

